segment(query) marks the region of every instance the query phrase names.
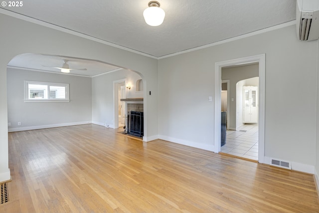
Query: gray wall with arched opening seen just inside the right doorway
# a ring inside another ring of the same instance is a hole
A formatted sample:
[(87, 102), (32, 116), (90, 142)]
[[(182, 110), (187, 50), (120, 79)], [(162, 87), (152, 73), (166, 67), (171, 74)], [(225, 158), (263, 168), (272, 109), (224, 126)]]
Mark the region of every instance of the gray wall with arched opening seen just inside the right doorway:
[[(257, 77), (259, 72), (258, 64), (222, 68), (221, 79), (229, 80), (229, 129), (236, 130), (236, 84), (240, 80)], [(234, 101), (231, 101), (234, 98)]]

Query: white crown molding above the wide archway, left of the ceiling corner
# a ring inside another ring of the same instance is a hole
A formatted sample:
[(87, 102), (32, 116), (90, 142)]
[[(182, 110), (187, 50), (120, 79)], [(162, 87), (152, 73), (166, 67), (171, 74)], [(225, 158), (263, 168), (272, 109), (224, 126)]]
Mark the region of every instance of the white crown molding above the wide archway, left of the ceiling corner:
[(93, 37), (93, 36), (90, 36), (90, 35), (86, 35), (86, 34), (83, 34), (83, 33), (68, 29), (68, 28), (64, 28), (64, 27), (57, 26), (57, 25), (54, 25), (54, 24), (51, 24), (51, 23), (48, 23), (48, 22), (44, 22), (44, 21), (41, 21), (41, 20), (38, 20), (38, 19), (35, 19), (35, 18), (32, 18), (32, 17), (21, 15), (21, 14), (18, 14), (18, 13), (15, 13), (15, 12), (3, 9), (3, 8), (0, 8), (0, 13), (5, 14), (5, 15), (9, 15), (9, 16), (12, 16), (12, 17), (15, 17), (15, 18), (19, 18), (19, 19), (22, 19), (22, 20), (25, 20), (25, 21), (28, 21), (28, 22), (31, 22), (31, 23), (39, 24), (41, 26), (45, 26), (45, 27), (49, 27), (49, 28), (52, 28), (52, 29), (56, 29), (56, 30), (62, 31), (62, 32), (66, 32), (66, 33), (69, 33), (69, 34), (72, 34), (72, 35), (76, 35), (76, 36), (79, 36), (79, 37), (82, 37), (82, 38), (86, 38), (86, 39), (89, 39), (89, 40), (92, 40), (92, 41), (103, 43), (103, 44), (106, 44), (106, 45), (109, 45), (109, 46), (113, 46), (113, 47), (116, 47), (116, 48), (119, 48), (119, 49), (123, 49), (123, 50), (129, 51), (129, 52), (133, 52), (133, 53), (144, 55), (144, 56), (147, 56), (147, 57), (150, 57), (150, 58), (157, 59), (156, 56), (153, 56), (153, 55), (150, 55), (150, 54), (146, 54), (144, 52), (140, 52), (140, 51), (135, 50), (135, 49), (130, 49), (128, 47), (124, 47), (124, 46), (121, 46), (121, 45), (118, 45), (118, 44), (115, 44), (115, 43), (111, 43), (109, 41), (105, 41), (105, 40), (102, 40), (102, 39), (99, 39), (99, 38), (96, 38), (96, 37)]

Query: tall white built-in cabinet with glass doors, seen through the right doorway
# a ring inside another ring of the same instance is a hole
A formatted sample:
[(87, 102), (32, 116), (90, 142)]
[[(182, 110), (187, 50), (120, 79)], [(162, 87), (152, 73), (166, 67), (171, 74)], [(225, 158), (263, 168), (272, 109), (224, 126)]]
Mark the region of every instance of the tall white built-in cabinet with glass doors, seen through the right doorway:
[(258, 87), (243, 87), (243, 123), (258, 123)]

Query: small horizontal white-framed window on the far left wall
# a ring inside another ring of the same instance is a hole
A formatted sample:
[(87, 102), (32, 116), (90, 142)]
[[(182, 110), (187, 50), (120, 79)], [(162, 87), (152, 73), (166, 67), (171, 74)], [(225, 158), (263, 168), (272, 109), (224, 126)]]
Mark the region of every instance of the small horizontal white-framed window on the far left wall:
[(24, 102), (69, 101), (69, 84), (24, 81)]

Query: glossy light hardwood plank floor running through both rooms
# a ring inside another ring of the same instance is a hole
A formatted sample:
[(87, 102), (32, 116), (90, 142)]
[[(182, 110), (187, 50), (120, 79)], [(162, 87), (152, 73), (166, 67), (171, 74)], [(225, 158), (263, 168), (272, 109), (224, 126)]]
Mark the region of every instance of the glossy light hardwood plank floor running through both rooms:
[(1, 213), (319, 212), (313, 175), (93, 124), (9, 133)]

